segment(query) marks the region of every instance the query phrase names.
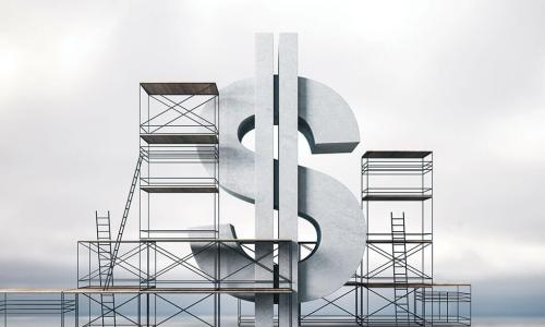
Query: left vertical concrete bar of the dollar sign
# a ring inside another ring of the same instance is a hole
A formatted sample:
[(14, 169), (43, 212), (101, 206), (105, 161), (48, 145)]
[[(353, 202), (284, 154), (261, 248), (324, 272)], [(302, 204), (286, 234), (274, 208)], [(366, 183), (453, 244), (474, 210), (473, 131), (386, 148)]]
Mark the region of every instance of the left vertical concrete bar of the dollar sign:
[[(274, 235), (274, 38), (271, 33), (255, 35), (255, 238), (271, 240)], [(255, 280), (272, 280), (272, 244), (255, 244)], [(272, 283), (256, 287), (271, 288)], [(255, 326), (272, 327), (272, 294), (255, 294)]]

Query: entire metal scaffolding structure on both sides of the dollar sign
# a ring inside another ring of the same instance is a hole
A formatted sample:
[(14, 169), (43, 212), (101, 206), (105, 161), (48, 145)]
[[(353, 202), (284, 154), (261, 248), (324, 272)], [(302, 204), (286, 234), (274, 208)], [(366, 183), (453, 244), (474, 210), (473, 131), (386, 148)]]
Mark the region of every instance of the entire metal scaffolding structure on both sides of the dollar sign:
[[(142, 83), (138, 129), (116, 239), (110, 213), (95, 213), (97, 239), (77, 243), (77, 287), (1, 289), (3, 326), (21, 314), (60, 314), (61, 326), (70, 316), (75, 326), (220, 326), (222, 294), (238, 298), (235, 323), (253, 325), (241, 299), (292, 292), (291, 272), (279, 274), (291, 267), (278, 267), (291, 263), (278, 259), (291, 241), (221, 239), (216, 84)], [(470, 326), (471, 286), (434, 280), (433, 154), (367, 152), (361, 164), (365, 255), (344, 287), (300, 305), (300, 325)], [(126, 240), (134, 199), (137, 238)], [(301, 255), (318, 244), (298, 245)], [(257, 280), (256, 266), (268, 278)]]

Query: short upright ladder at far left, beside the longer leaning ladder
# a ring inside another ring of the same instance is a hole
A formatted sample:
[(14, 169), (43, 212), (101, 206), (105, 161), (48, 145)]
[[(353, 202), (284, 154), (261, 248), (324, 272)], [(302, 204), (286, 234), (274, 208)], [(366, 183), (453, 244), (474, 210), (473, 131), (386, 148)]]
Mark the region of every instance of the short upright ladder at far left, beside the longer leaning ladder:
[[(100, 287), (105, 287), (111, 267), (110, 211), (107, 216), (98, 216), (98, 211), (95, 211), (95, 217), (98, 241), (98, 278)], [(100, 308), (102, 326), (116, 326), (116, 299), (112, 293), (100, 293)]]

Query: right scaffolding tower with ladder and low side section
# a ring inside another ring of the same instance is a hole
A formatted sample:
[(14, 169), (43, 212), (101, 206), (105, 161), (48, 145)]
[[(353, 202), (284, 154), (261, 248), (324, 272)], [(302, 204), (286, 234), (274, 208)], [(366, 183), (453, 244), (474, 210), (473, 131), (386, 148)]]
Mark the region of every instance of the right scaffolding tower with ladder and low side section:
[(471, 286), (434, 281), (433, 153), (366, 152), (362, 326), (471, 325)]

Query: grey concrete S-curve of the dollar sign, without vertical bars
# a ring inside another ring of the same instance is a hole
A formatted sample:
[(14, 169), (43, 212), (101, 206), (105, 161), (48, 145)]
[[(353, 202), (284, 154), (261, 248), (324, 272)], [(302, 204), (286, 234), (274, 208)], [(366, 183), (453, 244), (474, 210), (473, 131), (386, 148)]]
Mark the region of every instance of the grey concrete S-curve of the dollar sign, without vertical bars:
[[(278, 81), (275, 76), (275, 94)], [(275, 96), (275, 98), (277, 98)], [(254, 203), (254, 153), (241, 141), (254, 129), (253, 78), (234, 82), (220, 90), (220, 183), (235, 197)], [(278, 104), (275, 100), (275, 124)], [(348, 104), (330, 87), (310, 78), (299, 77), (299, 131), (305, 136), (313, 154), (351, 153), (360, 142), (355, 117)], [(278, 160), (275, 159), (275, 171)], [(336, 179), (299, 166), (299, 216), (308, 220), (317, 232), (313, 253), (299, 263), (299, 299), (306, 302), (326, 296), (341, 288), (358, 269), (365, 244), (365, 219), (359, 199)], [(275, 179), (275, 192), (278, 180)], [(275, 194), (278, 208), (278, 194)], [(234, 228), (220, 227), (220, 239), (235, 239)], [(203, 251), (205, 244), (192, 243), (198, 266), (214, 271), (214, 251)], [(240, 255), (222, 253), (222, 274), (235, 271), (247, 264)], [(239, 279), (253, 279), (249, 276)], [(238, 295), (253, 300), (253, 295)]]

